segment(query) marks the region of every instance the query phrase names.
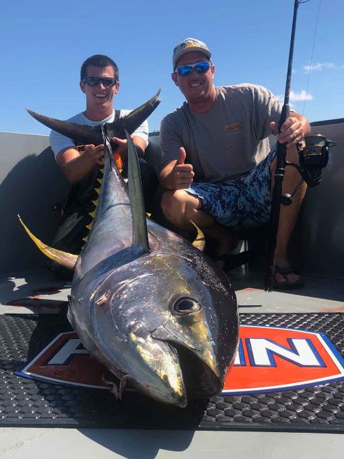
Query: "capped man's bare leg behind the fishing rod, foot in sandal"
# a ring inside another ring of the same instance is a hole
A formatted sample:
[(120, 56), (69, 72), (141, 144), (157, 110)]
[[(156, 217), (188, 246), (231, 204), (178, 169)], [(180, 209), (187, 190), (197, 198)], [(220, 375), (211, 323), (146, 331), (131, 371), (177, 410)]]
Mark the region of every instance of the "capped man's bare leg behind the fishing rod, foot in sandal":
[[(287, 150), (287, 159), (292, 163), (299, 163), (299, 154), (297, 153), (296, 147), (290, 147)], [(274, 184), (276, 168), (276, 158), (270, 166), (270, 173), (272, 177), (272, 187)], [(286, 167), (286, 173), (284, 174), (282, 192), (283, 193), (292, 193), (297, 183), (300, 180), (300, 174), (294, 167)], [(288, 267), (290, 263), (288, 261), (288, 245), (290, 241), (290, 236), (294, 230), (295, 223), (297, 221), (297, 216), (299, 215), (299, 210), (301, 208), (301, 203), (305, 197), (305, 192), (307, 185), (303, 183), (297, 193), (294, 195), (291, 205), (281, 205), (281, 211), (279, 214), (279, 229), (277, 232), (277, 243), (275, 250), (275, 261), (276, 265), (280, 267)], [(294, 273), (282, 274), (276, 273), (275, 278), (278, 282), (295, 282), (299, 280), (299, 276)]]

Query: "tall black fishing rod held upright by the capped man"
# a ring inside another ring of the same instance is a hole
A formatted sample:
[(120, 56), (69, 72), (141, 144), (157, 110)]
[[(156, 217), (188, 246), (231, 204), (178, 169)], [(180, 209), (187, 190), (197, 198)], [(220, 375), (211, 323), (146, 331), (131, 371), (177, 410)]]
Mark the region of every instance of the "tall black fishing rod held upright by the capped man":
[[(295, 41), (295, 30), (297, 26), (297, 10), (300, 3), (307, 3), (310, 0), (295, 0), (294, 2), (294, 15), (292, 18), (292, 34), (290, 38), (290, 49), (289, 49), (289, 59), (288, 59), (288, 72), (286, 80), (286, 91), (284, 93), (284, 103), (282, 107), (281, 117), (279, 119), (279, 132), (281, 132), (281, 127), (283, 123), (289, 118), (290, 107), (290, 82), (292, 79), (292, 57), (294, 54), (294, 41)], [(271, 201), (271, 211), (270, 211), (270, 234), (268, 241), (268, 255), (266, 263), (266, 277), (264, 289), (266, 292), (272, 291), (272, 283), (275, 277), (275, 248), (277, 243), (277, 231), (279, 227), (279, 212), (281, 209), (281, 196), (282, 196), (282, 182), (284, 177), (284, 172), (286, 170), (286, 152), (287, 144), (286, 143), (277, 143), (277, 163), (275, 170), (275, 183), (272, 190), (272, 201)]]

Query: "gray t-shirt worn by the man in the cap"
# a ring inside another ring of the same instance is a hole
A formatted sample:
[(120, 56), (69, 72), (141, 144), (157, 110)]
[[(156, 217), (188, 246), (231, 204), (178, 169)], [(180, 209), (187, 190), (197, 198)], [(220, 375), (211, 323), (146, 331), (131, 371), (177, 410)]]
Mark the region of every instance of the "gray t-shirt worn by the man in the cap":
[(160, 127), (162, 164), (186, 150), (195, 181), (217, 183), (250, 171), (270, 152), (271, 121), (281, 104), (266, 88), (244, 83), (216, 87), (213, 108), (197, 114), (184, 102)]

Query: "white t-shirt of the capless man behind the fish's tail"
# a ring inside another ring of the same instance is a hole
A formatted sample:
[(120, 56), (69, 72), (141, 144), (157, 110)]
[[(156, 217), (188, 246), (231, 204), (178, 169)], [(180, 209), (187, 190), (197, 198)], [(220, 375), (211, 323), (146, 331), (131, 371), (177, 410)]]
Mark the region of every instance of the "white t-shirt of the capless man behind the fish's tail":
[[(114, 121), (115, 116), (119, 115), (120, 118), (123, 116), (126, 116), (129, 114), (131, 110), (114, 110), (114, 112), (108, 116), (107, 118), (101, 120), (101, 121), (92, 121), (83, 114), (83, 112), (76, 114), (75, 116), (72, 116), (72, 118), (69, 118), (67, 121), (70, 121), (71, 123), (76, 123), (76, 124), (81, 124), (81, 125), (86, 125), (86, 126), (98, 126), (99, 124), (105, 124), (105, 123), (112, 123)], [(146, 142), (146, 146), (148, 145), (148, 121), (144, 121), (142, 125), (138, 127), (138, 129), (133, 132), (134, 136), (141, 137)], [(55, 158), (56, 155), (61, 152), (61, 150), (64, 150), (67, 147), (74, 147), (75, 143), (72, 141), (72, 139), (69, 139), (69, 137), (63, 136), (62, 134), (59, 134), (56, 131), (50, 132), (50, 145), (52, 147), (52, 151), (54, 152)]]

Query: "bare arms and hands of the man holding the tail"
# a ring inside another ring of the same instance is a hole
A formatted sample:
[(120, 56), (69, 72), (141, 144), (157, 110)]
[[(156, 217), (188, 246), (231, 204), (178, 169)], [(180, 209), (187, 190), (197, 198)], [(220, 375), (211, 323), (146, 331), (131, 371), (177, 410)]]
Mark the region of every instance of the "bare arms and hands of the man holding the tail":
[[(120, 154), (121, 158), (127, 158), (127, 141), (122, 139), (113, 139), (118, 143), (116, 153)], [(138, 136), (133, 136), (133, 143), (138, 150), (138, 156), (143, 156), (146, 149), (146, 142)], [(83, 179), (97, 164), (103, 164), (104, 145), (85, 145), (85, 152), (79, 154), (74, 147), (68, 147), (56, 156), (56, 162), (61, 167), (63, 174), (70, 183), (77, 183)]]

